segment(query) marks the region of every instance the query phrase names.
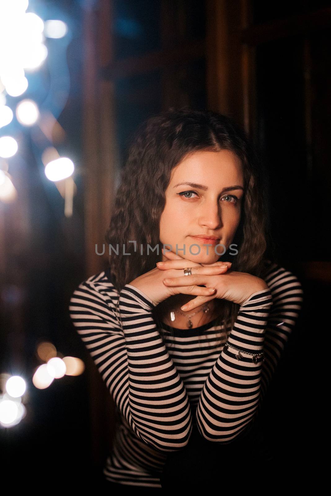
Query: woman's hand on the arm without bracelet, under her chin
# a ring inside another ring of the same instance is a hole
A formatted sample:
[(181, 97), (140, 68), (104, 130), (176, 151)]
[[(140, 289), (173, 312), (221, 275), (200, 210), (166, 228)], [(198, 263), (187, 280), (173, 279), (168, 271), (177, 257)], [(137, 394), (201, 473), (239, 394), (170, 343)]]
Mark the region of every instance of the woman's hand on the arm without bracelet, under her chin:
[[(181, 258), (181, 260), (184, 260)], [(200, 263), (192, 262), (191, 260), (186, 260), (185, 267), (191, 267), (192, 274), (223, 274), (229, 268), (229, 262), (216, 262), (213, 265), (201, 265)], [(172, 295), (185, 294), (192, 296), (206, 296), (211, 297), (214, 291), (211, 288), (206, 288), (205, 286), (172, 286), (167, 287), (163, 284), (163, 280), (167, 277), (179, 277), (184, 275), (182, 263), (178, 269), (155, 269), (145, 272), (141, 276), (130, 282), (130, 286), (133, 286), (140, 291), (142, 291), (155, 305), (159, 305), (161, 302), (166, 300)]]

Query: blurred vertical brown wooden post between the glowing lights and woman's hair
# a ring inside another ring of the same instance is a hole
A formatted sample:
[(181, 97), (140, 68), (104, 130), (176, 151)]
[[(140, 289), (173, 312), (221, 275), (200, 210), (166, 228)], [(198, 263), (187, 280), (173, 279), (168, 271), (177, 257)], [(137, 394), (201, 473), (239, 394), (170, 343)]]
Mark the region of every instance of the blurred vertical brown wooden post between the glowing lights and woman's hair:
[[(84, 16), (83, 71), (83, 179), (85, 220), (85, 272), (92, 276), (108, 265), (108, 249), (102, 251), (110, 223), (118, 158), (114, 125), (114, 88), (99, 77), (100, 65), (113, 57), (112, 5), (99, 0), (99, 10), (89, 8)], [(106, 244), (106, 243), (105, 243)], [(102, 468), (114, 432), (115, 404), (93, 360), (88, 356), (91, 456), (95, 467)]]

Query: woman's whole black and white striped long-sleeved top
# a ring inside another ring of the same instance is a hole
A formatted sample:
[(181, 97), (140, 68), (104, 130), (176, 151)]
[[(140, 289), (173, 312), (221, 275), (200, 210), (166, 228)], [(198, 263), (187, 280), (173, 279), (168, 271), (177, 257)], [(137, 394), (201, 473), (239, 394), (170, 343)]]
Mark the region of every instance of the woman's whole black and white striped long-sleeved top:
[[(109, 269), (74, 291), (72, 322), (116, 404), (117, 427), (105, 478), (129, 486), (161, 488), (167, 453), (188, 443), (193, 424), (209, 441), (229, 443), (253, 424), (295, 326), (303, 291), (297, 277), (268, 261), (269, 289), (241, 306), (228, 336), (243, 350), (223, 351), (215, 320), (193, 329), (162, 324), (153, 302), (126, 284), (118, 295)], [(118, 302), (119, 298), (119, 302)], [(118, 303), (118, 310), (116, 304)], [(244, 353), (261, 353), (257, 362)]]

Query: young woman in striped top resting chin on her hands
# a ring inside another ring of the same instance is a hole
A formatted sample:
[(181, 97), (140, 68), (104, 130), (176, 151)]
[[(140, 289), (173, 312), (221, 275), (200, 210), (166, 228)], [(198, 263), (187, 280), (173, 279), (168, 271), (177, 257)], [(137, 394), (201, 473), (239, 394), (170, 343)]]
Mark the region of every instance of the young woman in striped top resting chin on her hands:
[(266, 188), (228, 117), (169, 109), (137, 130), (106, 234), (110, 265), (69, 307), (116, 404), (109, 486), (170, 487), (167, 459), (187, 459), (190, 439), (208, 454), (253, 432), (302, 303), (297, 277), (268, 255)]

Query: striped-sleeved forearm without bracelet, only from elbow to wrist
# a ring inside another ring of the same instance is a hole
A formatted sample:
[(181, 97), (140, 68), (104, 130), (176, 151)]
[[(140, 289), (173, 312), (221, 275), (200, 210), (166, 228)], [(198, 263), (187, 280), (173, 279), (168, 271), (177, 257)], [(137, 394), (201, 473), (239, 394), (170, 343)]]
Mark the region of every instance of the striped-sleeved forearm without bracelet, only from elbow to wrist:
[(176, 449), (188, 442), (192, 414), (183, 381), (152, 316), (153, 302), (127, 284), (120, 292), (132, 422), (146, 442)]

